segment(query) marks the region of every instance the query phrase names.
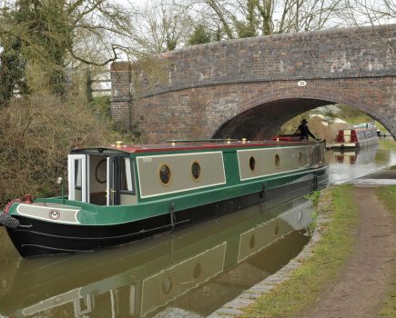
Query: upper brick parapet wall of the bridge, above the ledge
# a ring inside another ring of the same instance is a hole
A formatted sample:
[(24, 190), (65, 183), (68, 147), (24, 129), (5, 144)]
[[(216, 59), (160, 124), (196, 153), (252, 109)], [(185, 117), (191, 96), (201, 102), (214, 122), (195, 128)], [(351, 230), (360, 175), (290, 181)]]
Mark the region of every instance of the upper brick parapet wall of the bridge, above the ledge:
[(197, 45), (158, 56), (167, 83), (141, 74), (136, 84), (145, 97), (214, 84), (394, 75), (395, 56), (384, 45), (394, 38), (396, 25), (387, 25)]

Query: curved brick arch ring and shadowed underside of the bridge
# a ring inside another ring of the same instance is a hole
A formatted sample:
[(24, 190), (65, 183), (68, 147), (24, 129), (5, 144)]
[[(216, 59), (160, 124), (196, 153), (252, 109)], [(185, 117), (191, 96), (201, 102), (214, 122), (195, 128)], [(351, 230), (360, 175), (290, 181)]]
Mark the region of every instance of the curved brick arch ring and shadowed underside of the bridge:
[(274, 89), (270, 94), (262, 92), (251, 96), (247, 101), (236, 105), (232, 117), (220, 123), (211, 137), (269, 138), (289, 119), (328, 104), (348, 104), (381, 122), (381, 114), (377, 113), (375, 106), (359, 95), (308, 85), (282, 87)]

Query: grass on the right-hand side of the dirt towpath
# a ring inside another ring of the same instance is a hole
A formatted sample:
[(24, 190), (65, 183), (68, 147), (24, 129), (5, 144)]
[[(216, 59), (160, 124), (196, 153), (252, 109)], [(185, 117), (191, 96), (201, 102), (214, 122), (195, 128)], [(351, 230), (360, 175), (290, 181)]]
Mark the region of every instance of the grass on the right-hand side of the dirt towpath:
[[(377, 190), (377, 195), (385, 204), (387, 210), (393, 214), (396, 221), (394, 208), (396, 206), (396, 186), (381, 186)], [(381, 303), (380, 315), (382, 317), (396, 317), (396, 266), (393, 266), (391, 291), (387, 293), (385, 300)]]

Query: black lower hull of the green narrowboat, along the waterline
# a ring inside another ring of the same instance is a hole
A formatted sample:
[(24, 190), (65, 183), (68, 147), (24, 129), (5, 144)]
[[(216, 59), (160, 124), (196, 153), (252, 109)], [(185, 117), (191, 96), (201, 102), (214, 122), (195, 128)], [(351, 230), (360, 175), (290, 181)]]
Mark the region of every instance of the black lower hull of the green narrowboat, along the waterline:
[(327, 185), (328, 174), (320, 176), (312, 174), (311, 176), (309, 180), (282, 185), (268, 191), (263, 184), (263, 191), (259, 193), (174, 213), (169, 212), (169, 214), (161, 214), (127, 224), (53, 224), (17, 215), (15, 218), (18, 219), (21, 226), (16, 229), (7, 228), (7, 232), (15, 248), (24, 257), (92, 252), (101, 248), (131, 243), (155, 234), (166, 233), (174, 228), (196, 224), (264, 201), (268, 202), (269, 206), (285, 203)]

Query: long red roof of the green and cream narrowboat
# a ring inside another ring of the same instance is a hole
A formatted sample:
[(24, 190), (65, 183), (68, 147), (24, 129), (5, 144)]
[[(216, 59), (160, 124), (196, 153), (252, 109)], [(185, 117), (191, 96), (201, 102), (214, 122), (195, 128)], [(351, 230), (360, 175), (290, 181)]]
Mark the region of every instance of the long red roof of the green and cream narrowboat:
[(235, 147), (255, 147), (255, 146), (273, 146), (280, 145), (285, 146), (293, 144), (307, 144), (307, 142), (290, 142), (290, 141), (276, 141), (276, 140), (263, 140), (263, 141), (248, 141), (248, 140), (235, 140), (235, 139), (211, 139), (211, 140), (198, 140), (198, 141), (187, 141), (187, 140), (171, 140), (167, 144), (110, 144), (107, 146), (93, 146), (85, 148), (73, 149), (70, 154), (86, 154), (86, 153), (103, 153), (106, 151), (107, 154), (138, 154), (138, 153), (156, 153), (156, 152), (170, 152), (170, 151), (184, 151), (184, 150), (210, 150), (210, 149), (225, 149)]

